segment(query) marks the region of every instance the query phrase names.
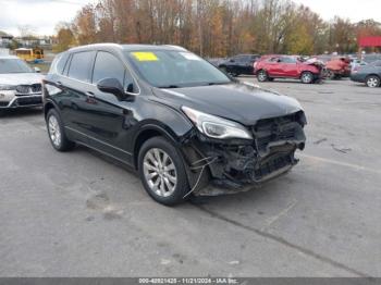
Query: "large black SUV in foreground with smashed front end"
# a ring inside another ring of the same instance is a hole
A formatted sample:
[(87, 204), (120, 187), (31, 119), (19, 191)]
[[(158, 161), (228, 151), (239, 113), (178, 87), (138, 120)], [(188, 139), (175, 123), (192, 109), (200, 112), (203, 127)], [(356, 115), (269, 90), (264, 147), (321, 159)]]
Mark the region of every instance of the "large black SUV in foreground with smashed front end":
[(305, 145), (295, 99), (241, 84), (180, 47), (74, 48), (42, 86), (57, 150), (84, 145), (132, 165), (163, 205), (245, 190), (287, 172)]

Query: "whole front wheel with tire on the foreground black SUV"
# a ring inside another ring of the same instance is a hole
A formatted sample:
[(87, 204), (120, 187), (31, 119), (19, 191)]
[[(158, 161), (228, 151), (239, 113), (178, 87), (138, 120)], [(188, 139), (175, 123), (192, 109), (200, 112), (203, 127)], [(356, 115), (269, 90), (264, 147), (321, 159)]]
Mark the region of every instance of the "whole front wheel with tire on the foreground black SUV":
[(183, 159), (167, 139), (153, 137), (142, 146), (138, 172), (143, 186), (155, 201), (174, 206), (187, 199), (185, 196), (190, 189)]

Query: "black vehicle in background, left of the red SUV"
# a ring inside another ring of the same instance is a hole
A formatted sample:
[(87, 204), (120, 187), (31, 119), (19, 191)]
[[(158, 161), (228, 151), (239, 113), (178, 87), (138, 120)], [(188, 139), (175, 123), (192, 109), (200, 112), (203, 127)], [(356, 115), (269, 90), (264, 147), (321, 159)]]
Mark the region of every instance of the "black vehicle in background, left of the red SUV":
[(233, 76), (254, 75), (253, 64), (258, 59), (258, 54), (238, 54), (219, 63), (218, 67)]

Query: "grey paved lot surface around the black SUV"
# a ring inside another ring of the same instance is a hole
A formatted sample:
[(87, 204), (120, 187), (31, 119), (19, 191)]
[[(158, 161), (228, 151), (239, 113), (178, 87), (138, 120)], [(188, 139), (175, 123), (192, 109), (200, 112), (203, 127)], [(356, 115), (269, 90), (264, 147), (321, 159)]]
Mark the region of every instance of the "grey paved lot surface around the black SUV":
[(381, 88), (261, 86), (304, 106), (300, 163), (260, 189), (176, 208), (93, 151), (56, 152), (40, 112), (3, 115), (0, 275), (381, 276)]

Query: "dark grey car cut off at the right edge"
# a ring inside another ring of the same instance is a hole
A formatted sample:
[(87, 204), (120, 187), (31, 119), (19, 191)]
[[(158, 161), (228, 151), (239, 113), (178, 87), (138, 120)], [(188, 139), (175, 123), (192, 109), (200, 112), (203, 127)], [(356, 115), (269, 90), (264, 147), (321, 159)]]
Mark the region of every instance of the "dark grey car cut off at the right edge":
[(381, 60), (358, 66), (351, 75), (353, 82), (365, 83), (368, 87), (374, 88), (381, 85)]

